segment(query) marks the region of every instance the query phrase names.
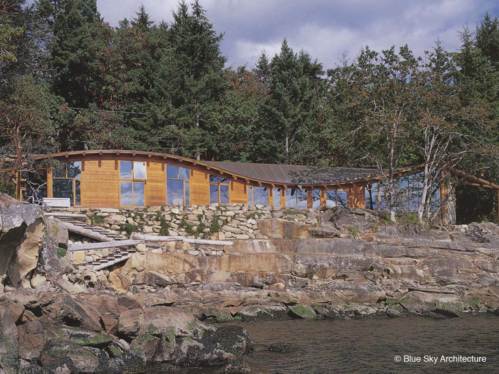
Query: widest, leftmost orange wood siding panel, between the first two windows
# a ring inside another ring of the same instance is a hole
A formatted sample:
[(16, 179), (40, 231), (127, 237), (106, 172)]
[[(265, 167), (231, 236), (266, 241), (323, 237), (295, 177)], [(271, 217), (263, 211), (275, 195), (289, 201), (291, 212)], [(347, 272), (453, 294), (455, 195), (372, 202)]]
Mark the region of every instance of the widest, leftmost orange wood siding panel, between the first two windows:
[(119, 197), (118, 164), (114, 160), (85, 160), (81, 172), (81, 206), (119, 206)]

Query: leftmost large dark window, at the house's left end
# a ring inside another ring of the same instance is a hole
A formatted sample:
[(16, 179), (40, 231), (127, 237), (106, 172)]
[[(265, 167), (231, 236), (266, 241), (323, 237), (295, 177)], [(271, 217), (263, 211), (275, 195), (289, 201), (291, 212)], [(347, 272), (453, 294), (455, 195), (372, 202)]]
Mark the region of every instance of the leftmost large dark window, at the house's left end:
[(52, 168), (52, 196), (69, 198), (71, 206), (81, 205), (81, 161)]

